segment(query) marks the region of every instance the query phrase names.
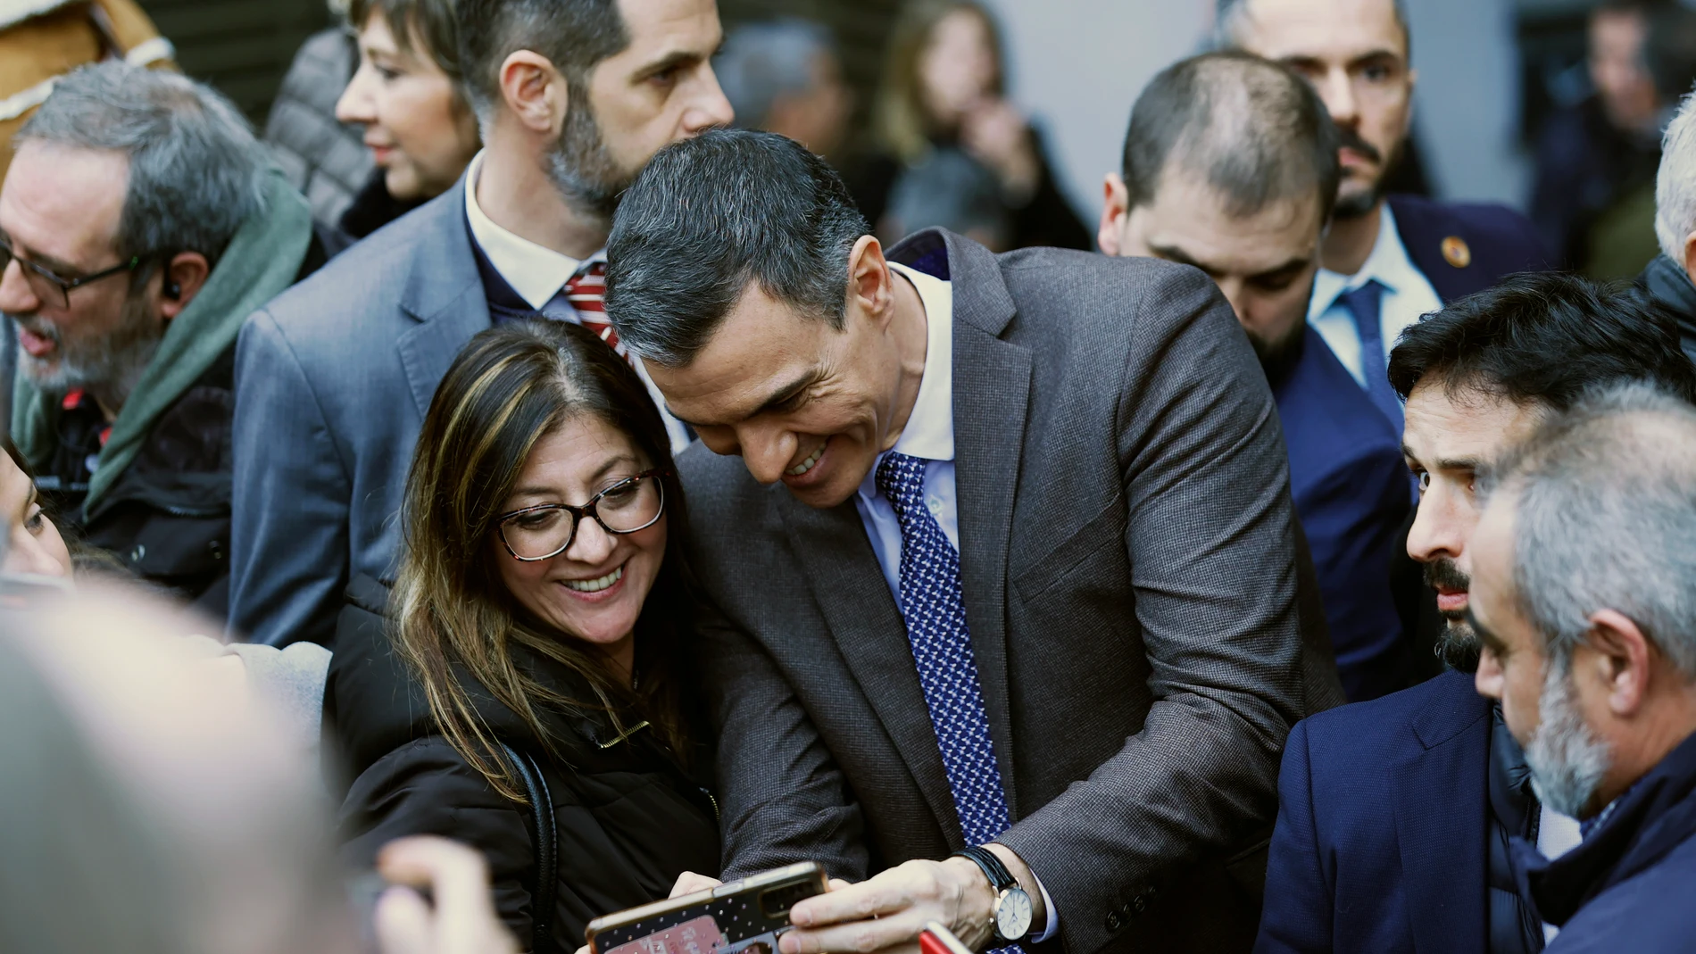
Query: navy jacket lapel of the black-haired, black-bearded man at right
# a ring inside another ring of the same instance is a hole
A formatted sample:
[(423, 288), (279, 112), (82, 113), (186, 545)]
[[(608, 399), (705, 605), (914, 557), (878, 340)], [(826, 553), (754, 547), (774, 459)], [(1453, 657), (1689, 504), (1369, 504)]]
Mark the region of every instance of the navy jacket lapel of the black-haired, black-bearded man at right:
[(1489, 703), (1462, 674), (1413, 729), (1425, 749), (1391, 771), (1408, 915), (1421, 954), (1484, 954)]

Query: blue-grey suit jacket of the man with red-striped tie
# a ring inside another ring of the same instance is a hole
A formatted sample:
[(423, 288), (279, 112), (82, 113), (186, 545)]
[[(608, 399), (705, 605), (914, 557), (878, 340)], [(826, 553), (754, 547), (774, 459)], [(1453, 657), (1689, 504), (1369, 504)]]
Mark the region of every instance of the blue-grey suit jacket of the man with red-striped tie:
[(463, 176), (248, 319), (236, 344), (237, 637), (327, 646), (348, 580), (393, 578), (424, 412), (487, 327)]

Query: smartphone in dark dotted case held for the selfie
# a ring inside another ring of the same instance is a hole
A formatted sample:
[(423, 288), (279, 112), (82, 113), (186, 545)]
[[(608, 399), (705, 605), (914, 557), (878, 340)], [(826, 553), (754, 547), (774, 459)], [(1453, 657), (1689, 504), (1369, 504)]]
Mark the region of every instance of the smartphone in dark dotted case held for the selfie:
[(592, 954), (777, 954), (789, 908), (826, 890), (824, 868), (804, 861), (668, 901), (589, 922)]

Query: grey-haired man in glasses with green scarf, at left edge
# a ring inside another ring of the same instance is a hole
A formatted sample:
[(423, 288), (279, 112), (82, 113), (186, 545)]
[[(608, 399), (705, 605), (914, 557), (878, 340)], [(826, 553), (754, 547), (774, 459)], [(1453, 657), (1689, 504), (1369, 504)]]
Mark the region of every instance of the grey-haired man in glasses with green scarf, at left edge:
[(215, 615), (236, 334), (321, 261), (248, 120), (175, 73), (59, 80), (0, 185), (12, 439), (83, 541)]

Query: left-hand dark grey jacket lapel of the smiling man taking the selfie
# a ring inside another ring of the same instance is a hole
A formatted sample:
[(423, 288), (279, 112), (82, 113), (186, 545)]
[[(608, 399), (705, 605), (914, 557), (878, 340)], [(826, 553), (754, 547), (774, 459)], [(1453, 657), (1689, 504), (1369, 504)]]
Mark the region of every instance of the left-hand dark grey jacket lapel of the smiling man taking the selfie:
[(907, 625), (889, 593), (853, 502), (814, 510), (787, 490), (773, 490), (789, 542), (811, 583), (812, 598), (855, 681), (924, 793), (938, 827), (960, 840), (960, 815), (948, 790), (924, 690), (912, 663)]

